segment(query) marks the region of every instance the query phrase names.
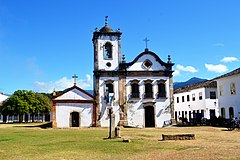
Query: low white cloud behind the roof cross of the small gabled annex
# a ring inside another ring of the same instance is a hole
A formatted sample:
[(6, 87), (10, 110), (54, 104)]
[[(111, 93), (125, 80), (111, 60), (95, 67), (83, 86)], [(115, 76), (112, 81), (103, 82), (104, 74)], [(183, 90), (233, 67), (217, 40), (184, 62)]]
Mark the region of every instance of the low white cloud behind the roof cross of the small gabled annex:
[[(73, 86), (73, 79), (68, 79), (67, 77), (62, 77), (61, 79), (55, 81), (55, 82), (35, 82), (36, 92), (44, 92), (44, 93), (51, 93), (55, 89), (56, 91), (62, 91), (65, 90), (71, 86)], [(86, 89), (86, 88), (92, 88), (92, 78), (89, 74), (86, 75), (85, 79), (79, 79), (77, 80), (77, 86)]]

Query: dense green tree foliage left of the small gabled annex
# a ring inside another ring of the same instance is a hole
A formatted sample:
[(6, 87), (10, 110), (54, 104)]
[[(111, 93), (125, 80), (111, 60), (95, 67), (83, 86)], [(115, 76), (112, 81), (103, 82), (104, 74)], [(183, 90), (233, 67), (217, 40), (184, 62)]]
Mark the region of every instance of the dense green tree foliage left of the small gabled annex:
[(3, 102), (1, 112), (3, 115), (48, 113), (51, 106), (51, 100), (46, 95), (33, 91), (18, 90)]

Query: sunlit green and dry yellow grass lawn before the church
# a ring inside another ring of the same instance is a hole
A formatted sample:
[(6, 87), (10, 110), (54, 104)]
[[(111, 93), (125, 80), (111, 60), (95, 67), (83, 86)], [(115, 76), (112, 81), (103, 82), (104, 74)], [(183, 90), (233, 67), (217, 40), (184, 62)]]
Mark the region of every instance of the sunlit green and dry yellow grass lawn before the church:
[[(240, 159), (240, 131), (214, 127), (121, 128), (122, 139), (104, 140), (107, 128), (42, 129), (0, 124), (0, 159)], [(161, 141), (162, 134), (194, 133), (195, 140)]]

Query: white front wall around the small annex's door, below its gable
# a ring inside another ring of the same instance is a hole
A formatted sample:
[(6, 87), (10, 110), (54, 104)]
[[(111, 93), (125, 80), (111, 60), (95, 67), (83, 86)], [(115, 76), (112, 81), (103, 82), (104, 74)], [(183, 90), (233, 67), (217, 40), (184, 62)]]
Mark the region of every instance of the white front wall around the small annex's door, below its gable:
[(92, 124), (93, 104), (86, 103), (57, 103), (56, 122), (58, 128), (70, 127), (70, 113), (79, 112), (80, 127), (90, 127)]

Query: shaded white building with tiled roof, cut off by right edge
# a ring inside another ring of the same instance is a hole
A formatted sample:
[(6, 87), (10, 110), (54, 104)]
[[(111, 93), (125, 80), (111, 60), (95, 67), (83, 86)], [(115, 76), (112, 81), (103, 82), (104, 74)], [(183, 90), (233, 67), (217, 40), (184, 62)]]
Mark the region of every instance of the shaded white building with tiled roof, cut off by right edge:
[(220, 115), (240, 119), (240, 68), (215, 78), (218, 86)]

